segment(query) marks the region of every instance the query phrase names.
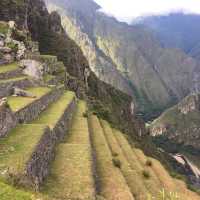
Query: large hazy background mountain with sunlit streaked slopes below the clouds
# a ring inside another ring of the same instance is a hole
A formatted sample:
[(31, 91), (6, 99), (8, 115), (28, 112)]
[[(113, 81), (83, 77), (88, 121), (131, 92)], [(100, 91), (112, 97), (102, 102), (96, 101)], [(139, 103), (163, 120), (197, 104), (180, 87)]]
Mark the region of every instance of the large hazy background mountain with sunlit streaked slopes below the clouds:
[(69, 36), (81, 47), (96, 75), (128, 92), (141, 112), (168, 106), (193, 88), (199, 68), (177, 49), (163, 49), (151, 32), (98, 11), (92, 0), (47, 0)]

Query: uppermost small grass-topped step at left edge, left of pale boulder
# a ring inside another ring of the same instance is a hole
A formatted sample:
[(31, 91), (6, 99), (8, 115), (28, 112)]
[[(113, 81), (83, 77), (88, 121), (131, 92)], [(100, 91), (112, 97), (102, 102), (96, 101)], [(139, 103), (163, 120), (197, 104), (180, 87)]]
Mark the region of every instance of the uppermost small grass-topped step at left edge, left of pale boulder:
[(22, 69), (17, 62), (0, 66), (0, 80), (16, 78), (22, 76)]

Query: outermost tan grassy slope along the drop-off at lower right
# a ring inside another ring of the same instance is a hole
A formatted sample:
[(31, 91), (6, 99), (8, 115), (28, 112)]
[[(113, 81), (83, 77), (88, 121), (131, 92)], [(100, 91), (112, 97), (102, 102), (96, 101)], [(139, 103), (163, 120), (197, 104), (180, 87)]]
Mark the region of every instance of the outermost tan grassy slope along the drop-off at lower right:
[[(116, 138), (124, 150), (124, 153), (129, 158), (130, 166), (136, 170), (148, 170), (150, 174), (150, 184), (146, 187), (155, 190), (157, 193), (164, 188), (168, 193), (173, 192), (178, 194), (180, 200), (199, 200), (200, 196), (187, 189), (186, 184), (183, 181), (173, 179), (169, 173), (165, 170), (162, 164), (153, 158), (147, 157), (140, 149), (131, 148), (126, 138), (119, 131), (115, 132)], [(147, 166), (146, 161), (151, 161), (151, 166)], [(147, 169), (148, 168), (148, 169)], [(138, 172), (139, 172), (138, 171)], [(153, 196), (156, 194), (154, 193)]]

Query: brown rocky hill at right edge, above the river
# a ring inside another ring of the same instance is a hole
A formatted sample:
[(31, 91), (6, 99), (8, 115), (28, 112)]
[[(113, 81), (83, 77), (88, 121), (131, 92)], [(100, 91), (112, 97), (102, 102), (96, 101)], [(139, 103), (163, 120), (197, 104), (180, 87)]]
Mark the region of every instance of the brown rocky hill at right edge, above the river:
[(200, 95), (191, 94), (164, 112), (151, 124), (150, 133), (200, 149)]

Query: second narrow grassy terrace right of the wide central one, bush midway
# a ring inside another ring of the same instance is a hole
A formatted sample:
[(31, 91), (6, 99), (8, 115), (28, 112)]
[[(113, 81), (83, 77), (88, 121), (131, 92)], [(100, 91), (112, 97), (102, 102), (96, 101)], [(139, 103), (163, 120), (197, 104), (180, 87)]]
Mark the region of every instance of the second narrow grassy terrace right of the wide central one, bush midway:
[(113, 159), (119, 160), (121, 162), (120, 170), (124, 175), (126, 182), (136, 200), (147, 200), (148, 190), (144, 184), (144, 178), (141, 174), (138, 174), (136, 170), (130, 167), (130, 163), (119, 146), (113, 131), (106, 121), (101, 121), (105, 137), (110, 146)]

